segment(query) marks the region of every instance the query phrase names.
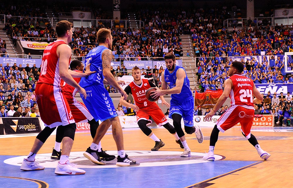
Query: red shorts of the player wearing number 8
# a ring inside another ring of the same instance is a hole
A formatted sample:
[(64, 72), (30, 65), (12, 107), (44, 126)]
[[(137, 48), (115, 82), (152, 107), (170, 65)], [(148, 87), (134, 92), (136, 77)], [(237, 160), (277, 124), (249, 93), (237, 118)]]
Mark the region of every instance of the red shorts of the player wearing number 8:
[(154, 105), (148, 106), (147, 108), (139, 109), (136, 114), (136, 120), (137, 122), (141, 119), (148, 120), (149, 123), (147, 125), (149, 125), (152, 123), (152, 121), (149, 119), (149, 116), (151, 116), (154, 119), (155, 123), (160, 127), (168, 123), (168, 120), (162, 112), (161, 108), (155, 103)]

